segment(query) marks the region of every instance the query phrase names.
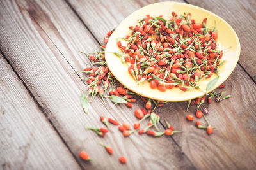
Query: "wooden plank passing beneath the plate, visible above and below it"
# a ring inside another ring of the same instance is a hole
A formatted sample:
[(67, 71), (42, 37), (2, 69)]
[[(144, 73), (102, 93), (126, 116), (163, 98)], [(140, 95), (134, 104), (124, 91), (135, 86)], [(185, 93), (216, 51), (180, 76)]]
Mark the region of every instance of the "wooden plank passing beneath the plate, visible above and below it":
[[(83, 22), (100, 42), (104, 36), (100, 32), (107, 32), (116, 27), (127, 16), (127, 13), (132, 13), (132, 11), (140, 8), (140, 4), (131, 1), (129, 3), (132, 3), (132, 5), (127, 4), (129, 8), (120, 8), (122, 3), (118, 1), (115, 4), (104, 2), (101, 6), (96, 5), (99, 4), (99, 1), (93, 1), (89, 4), (85, 4), (83, 1), (70, 1)], [(104, 12), (102, 15), (90, 17), (99, 11)], [(108, 24), (100, 22), (106, 16), (115, 16), (116, 21), (110, 20)], [(253, 52), (253, 50), (251, 51)], [(252, 169), (253, 166), (255, 167), (253, 155), (255, 155), (256, 143), (253, 133), (256, 130), (255, 84), (240, 66), (237, 66), (225, 84), (227, 85), (227, 92), (231, 93), (233, 97), (229, 101), (211, 104), (209, 118), (212, 124), (218, 127), (212, 136), (207, 136), (205, 131), (196, 129), (193, 123), (186, 121), (185, 115), (188, 113), (184, 112), (186, 107), (184, 102), (168, 103), (163, 108), (159, 108), (158, 112), (164, 118), (172, 120), (172, 124), (177, 129), (184, 131), (182, 134), (173, 136), (173, 139), (199, 169), (213, 169), (214, 167), (219, 169), (241, 169), (243, 167)], [(195, 108), (190, 111), (194, 112)]]

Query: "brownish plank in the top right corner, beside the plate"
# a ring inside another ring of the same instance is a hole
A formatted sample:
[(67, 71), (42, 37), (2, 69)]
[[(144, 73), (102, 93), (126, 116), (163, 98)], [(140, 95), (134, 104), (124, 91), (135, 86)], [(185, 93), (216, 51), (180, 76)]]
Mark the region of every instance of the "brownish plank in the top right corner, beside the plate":
[(241, 43), (239, 63), (256, 81), (256, 58), (253, 46), (256, 38), (255, 1), (187, 0), (187, 2), (216, 13), (233, 27)]

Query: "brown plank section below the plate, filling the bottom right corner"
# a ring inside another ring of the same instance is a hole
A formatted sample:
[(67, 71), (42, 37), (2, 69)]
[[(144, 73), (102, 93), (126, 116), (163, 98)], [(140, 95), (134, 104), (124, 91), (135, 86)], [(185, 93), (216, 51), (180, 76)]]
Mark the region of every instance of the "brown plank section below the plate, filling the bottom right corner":
[(168, 103), (159, 108), (159, 113), (172, 120), (174, 127), (182, 129), (183, 133), (173, 139), (198, 169), (253, 169), (256, 166), (256, 87), (239, 66), (224, 84), (223, 90), (232, 97), (209, 105), (207, 117), (217, 127), (211, 136), (195, 127), (195, 121), (206, 125), (203, 118), (186, 121), (186, 115), (196, 110), (192, 106), (188, 112), (184, 111), (186, 102)]

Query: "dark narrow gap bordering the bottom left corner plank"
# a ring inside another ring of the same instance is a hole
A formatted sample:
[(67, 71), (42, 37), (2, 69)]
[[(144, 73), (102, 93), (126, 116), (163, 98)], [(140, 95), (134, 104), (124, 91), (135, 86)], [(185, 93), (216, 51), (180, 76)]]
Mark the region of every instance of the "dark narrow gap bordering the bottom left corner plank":
[(42, 106), (38, 103), (38, 101), (36, 100), (35, 96), (33, 95), (33, 93), (31, 92), (31, 90), (28, 88), (28, 85), (26, 85), (26, 83), (22, 80), (22, 78), (20, 77), (20, 75), (17, 73), (17, 71), (15, 70), (15, 68), (12, 66), (12, 64), (9, 62), (9, 60), (7, 59), (7, 57), (4, 55), (4, 53), (2, 52), (2, 50), (0, 49), (0, 53), (1, 55), (3, 55), (4, 59), (6, 60), (6, 62), (10, 65), (10, 67), (12, 67), (13, 72), (15, 73), (15, 75), (19, 78), (19, 80), (21, 81), (22, 85), (24, 85), (24, 87), (26, 88), (26, 90), (28, 91), (29, 96), (31, 96), (33, 98), (33, 101), (35, 101), (36, 105), (38, 106), (38, 108), (40, 109), (40, 111), (42, 111), (43, 115), (45, 116), (45, 118), (47, 118), (47, 120), (49, 121), (49, 123), (52, 125), (54, 131), (56, 131), (56, 133), (58, 134), (58, 136), (60, 137), (61, 141), (64, 143), (64, 145), (67, 147), (68, 152), (71, 153), (72, 157), (76, 160), (77, 164), (79, 165), (79, 167), (81, 169), (84, 169), (83, 166), (81, 165), (81, 162), (79, 162), (79, 160), (77, 160), (76, 156), (74, 155), (74, 153), (70, 150), (70, 147), (67, 145), (66, 141), (62, 138), (60, 132), (58, 131), (58, 129), (55, 127), (55, 125), (52, 123), (51, 119), (47, 116), (47, 114), (45, 113), (44, 108), (42, 108)]

